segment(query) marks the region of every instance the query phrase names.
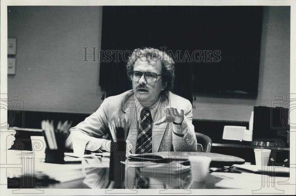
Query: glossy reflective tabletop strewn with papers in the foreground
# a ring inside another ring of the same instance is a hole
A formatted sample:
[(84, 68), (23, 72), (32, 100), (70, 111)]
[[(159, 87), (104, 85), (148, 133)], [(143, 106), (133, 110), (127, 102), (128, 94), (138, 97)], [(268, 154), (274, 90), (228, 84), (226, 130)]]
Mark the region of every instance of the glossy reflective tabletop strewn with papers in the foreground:
[[(7, 151), (7, 162), (15, 164), (15, 168), (7, 169), (8, 188), (68, 188), (68, 189), (107, 189), (114, 190), (116, 179), (110, 181), (110, 157), (102, 157), (98, 154), (85, 155), (83, 158), (65, 156), (66, 164), (45, 163), (44, 159), (34, 159), (32, 151)], [(223, 156), (221, 154), (221, 156)], [(66, 159), (67, 157), (67, 159)], [(33, 162), (23, 162), (23, 160)], [(32, 159), (33, 158), (33, 159)], [(153, 163), (147, 161), (131, 161), (126, 159), (123, 188), (125, 189), (253, 189), (259, 190), (263, 177), (269, 177), (259, 173), (247, 172), (243, 169), (232, 169), (232, 166), (210, 167), (207, 177), (203, 182), (194, 182), (192, 171), (188, 161), (181, 159), (169, 163)], [(17, 166), (19, 164), (19, 166)], [(24, 167), (35, 170), (24, 173)], [(19, 167), (19, 168), (17, 168)], [(142, 181), (144, 179), (144, 182)], [(288, 181), (289, 176), (276, 176), (276, 179), (266, 181), (272, 183)], [(141, 182), (141, 183), (140, 183)], [(139, 186), (143, 185), (143, 186)], [(165, 192), (164, 192), (165, 193)]]

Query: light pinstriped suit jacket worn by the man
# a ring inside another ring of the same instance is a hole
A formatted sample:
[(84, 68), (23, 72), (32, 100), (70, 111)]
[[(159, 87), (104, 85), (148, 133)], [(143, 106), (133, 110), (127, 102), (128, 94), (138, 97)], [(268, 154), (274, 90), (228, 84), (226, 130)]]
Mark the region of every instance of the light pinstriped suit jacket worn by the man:
[[(191, 103), (178, 95), (168, 92), (161, 96), (160, 108), (155, 115), (155, 119), (165, 116), (164, 108), (166, 106), (176, 107), (179, 111), (184, 110), (185, 119), (182, 122), (181, 130), (186, 130), (183, 137), (173, 133), (173, 123), (162, 123), (153, 126), (152, 129), (152, 152), (158, 151), (197, 151), (197, 141), (192, 125), (192, 105)], [(120, 95), (111, 96), (104, 100), (99, 109), (87, 117), (83, 122), (70, 129), (70, 135), (65, 146), (72, 148), (71, 132), (80, 131), (91, 137), (102, 138), (107, 134), (108, 124), (117, 118), (125, 118), (130, 121), (130, 129), (127, 136), (127, 148), (134, 154), (137, 145), (138, 121), (135, 109), (135, 95), (133, 90), (128, 90)]]

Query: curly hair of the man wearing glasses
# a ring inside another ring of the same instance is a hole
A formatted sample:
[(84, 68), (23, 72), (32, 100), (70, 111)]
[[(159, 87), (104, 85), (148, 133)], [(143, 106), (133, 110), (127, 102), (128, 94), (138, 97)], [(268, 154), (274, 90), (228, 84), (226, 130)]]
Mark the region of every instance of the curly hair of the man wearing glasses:
[(161, 62), (162, 82), (163, 84), (167, 83), (163, 93), (166, 94), (169, 90), (172, 90), (175, 80), (175, 62), (166, 52), (155, 48), (145, 47), (143, 49), (137, 48), (133, 50), (126, 65), (126, 72), (129, 80), (131, 80), (130, 75), (131, 71), (133, 71), (133, 65), (141, 57), (145, 57), (148, 62)]

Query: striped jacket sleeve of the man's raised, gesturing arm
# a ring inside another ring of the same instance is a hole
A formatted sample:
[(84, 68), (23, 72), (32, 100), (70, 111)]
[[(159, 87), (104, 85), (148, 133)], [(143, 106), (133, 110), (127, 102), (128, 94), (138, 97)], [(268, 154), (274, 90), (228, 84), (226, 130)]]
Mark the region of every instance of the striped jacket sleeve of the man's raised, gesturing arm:
[(173, 129), (180, 129), (184, 136), (178, 136), (173, 133), (173, 149), (174, 151), (197, 151), (197, 141), (192, 124), (192, 106), (189, 101), (186, 102), (184, 108), (184, 121), (181, 125), (173, 124)]

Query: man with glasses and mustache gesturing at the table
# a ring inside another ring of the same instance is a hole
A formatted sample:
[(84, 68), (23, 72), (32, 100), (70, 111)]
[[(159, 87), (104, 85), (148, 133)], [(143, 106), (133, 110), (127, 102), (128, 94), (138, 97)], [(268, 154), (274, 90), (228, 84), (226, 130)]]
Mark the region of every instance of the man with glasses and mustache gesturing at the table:
[(197, 151), (191, 103), (169, 91), (174, 80), (169, 55), (153, 48), (136, 49), (126, 68), (133, 90), (106, 98), (95, 113), (70, 129), (66, 147), (72, 148), (76, 138), (86, 150), (110, 151), (110, 141), (102, 137), (120, 118), (129, 121), (126, 140), (132, 154)]

